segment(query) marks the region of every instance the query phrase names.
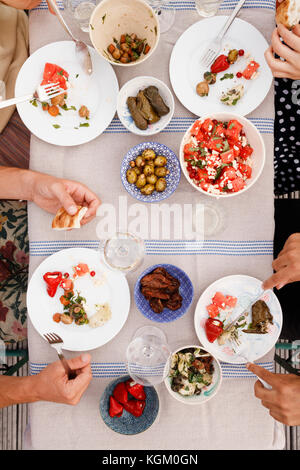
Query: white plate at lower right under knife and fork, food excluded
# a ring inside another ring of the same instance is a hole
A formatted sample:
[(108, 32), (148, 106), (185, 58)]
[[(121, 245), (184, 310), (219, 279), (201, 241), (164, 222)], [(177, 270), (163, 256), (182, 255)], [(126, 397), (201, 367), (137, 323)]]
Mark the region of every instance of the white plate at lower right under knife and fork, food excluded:
[[(232, 275), (215, 281), (201, 295), (194, 317), (196, 334), (203, 347), (220, 361), (232, 364), (244, 364), (246, 362), (246, 360), (237, 356), (229, 341), (223, 346), (220, 346), (217, 340), (213, 343), (208, 341), (204, 330), (204, 324), (208, 318), (207, 305), (211, 304), (212, 297), (218, 291), (224, 295), (237, 297), (238, 303), (232, 312), (233, 318), (233, 316), (238, 315), (239, 311), (242, 312), (244, 308), (247, 308), (251, 299), (255, 298), (261, 289), (261, 284), (261, 281), (251, 276)], [(267, 291), (261, 298), (266, 302), (273, 315), (274, 324), (270, 326), (270, 331), (266, 334), (250, 334), (241, 331), (239, 334), (241, 346), (245, 342), (249, 345), (252, 361), (257, 361), (272, 349), (279, 338), (282, 328), (282, 310), (276, 295), (272, 291)], [(248, 323), (250, 320), (251, 314)], [(230, 320), (228, 319), (228, 321)]]

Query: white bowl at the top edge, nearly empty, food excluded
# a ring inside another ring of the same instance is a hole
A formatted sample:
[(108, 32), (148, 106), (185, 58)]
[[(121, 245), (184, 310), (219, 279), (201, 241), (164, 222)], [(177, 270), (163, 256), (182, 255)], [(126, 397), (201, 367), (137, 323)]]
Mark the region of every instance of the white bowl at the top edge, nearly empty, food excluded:
[[(89, 26), (90, 39), (96, 51), (108, 62), (122, 67), (132, 67), (147, 60), (159, 41), (159, 21), (153, 9), (143, 0), (102, 0), (94, 9)], [(141, 54), (135, 62), (123, 64), (113, 59), (107, 51), (113, 38), (135, 33), (146, 39), (150, 46), (148, 54)]]

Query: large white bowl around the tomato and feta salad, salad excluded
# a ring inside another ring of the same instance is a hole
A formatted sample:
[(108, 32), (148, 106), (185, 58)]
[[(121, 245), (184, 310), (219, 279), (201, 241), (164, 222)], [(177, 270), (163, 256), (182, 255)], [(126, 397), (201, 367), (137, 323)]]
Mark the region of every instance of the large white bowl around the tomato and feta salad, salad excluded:
[[(248, 139), (249, 144), (253, 148), (253, 153), (251, 155), (252, 158), (252, 176), (246, 181), (245, 187), (236, 193), (224, 193), (224, 194), (212, 194), (208, 193), (207, 191), (204, 191), (202, 188), (197, 186), (189, 177), (188, 171), (187, 171), (187, 165), (186, 162), (184, 161), (184, 154), (183, 154), (183, 148), (184, 145), (188, 141), (188, 137), (190, 135), (190, 131), (195, 124), (196, 121), (201, 120), (202, 122), (207, 119), (217, 119), (218, 121), (223, 121), (223, 122), (228, 122), (231, 119), (236, 119), (243, 125), (243, 131), (246, 134), (246, 137)], [(205, 194), (206, 196), (212, 196), (214, 198), (228, 198), (228, 197), (233, 197), (233, 196), (238, 196), (239, 194), (244, 193), (247, 191), (251, 186), (254, 185), (254, 183), (258, 180), (259, 176), (262, 173), (264, 164), (265, 164), (265, 155), (266, 155), (266, 149), (265, 149), (265, 144), (263, 141), (263, 138), (260, 134), (260, 132), (257, 130), (257, 128), (252, 124), (251, 121), (246, 119), (243, 116), (239, 116), (237, 114), (233, 113), (215, 113), (215, 114), (207, 114), (205, 116), (202, 116), (201, 118), (196, 119), (196, 121), (193, 122), (193, 124), (189, 127), (189, 129), (186, 131), (181, 144), (180, 144), (180, 151), (179, 151), (179, 160), (180, 160), (180, 165), (183, 171), (184, 176), (188, 180), (188, 182), (195, 188), (197, 191), (201, 192), (202, 194)]]

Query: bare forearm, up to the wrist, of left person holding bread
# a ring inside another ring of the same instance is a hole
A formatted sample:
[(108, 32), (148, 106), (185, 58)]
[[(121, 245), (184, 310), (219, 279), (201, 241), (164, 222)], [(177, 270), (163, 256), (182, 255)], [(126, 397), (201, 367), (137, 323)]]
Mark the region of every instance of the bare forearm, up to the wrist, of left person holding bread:
[(32, 200), (36, 173), (21, 168), (0, 167), (0, 199)]

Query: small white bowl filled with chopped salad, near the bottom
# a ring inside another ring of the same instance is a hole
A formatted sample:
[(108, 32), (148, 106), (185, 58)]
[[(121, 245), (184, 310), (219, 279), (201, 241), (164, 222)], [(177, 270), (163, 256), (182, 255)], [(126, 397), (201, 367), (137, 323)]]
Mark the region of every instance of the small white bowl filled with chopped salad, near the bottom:
[(176, 349), (167, 367), (165, 385), (171, 396), (181, 403), (201, 405), (220, 389), (220, 363), (202, 346), (187, 345)]

